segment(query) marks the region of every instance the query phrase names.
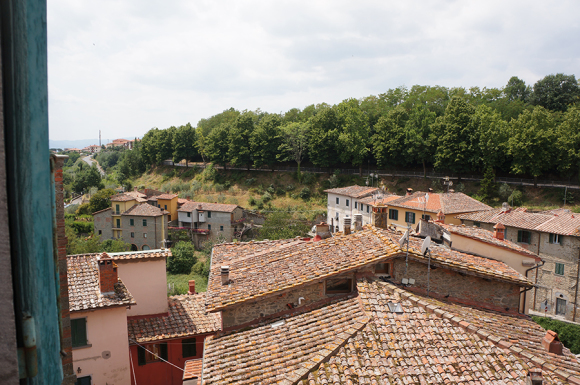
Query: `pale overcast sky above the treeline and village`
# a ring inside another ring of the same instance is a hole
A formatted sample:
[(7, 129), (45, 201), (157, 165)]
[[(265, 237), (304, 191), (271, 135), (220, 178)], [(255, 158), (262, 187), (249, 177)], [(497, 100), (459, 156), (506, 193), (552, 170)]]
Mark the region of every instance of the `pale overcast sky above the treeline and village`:
[(580, 2), (49, 0), (50, 138), (580, 75)]

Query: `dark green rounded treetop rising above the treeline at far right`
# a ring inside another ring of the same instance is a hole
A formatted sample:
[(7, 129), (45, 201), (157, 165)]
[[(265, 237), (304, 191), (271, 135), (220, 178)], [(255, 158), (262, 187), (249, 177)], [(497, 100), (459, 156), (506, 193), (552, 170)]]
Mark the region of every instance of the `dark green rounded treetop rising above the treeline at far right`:
[(566, 111), (578, 102), (580, 87), (574, 75), (548, 75), (534, 84), (532, 103), (548, 110)]

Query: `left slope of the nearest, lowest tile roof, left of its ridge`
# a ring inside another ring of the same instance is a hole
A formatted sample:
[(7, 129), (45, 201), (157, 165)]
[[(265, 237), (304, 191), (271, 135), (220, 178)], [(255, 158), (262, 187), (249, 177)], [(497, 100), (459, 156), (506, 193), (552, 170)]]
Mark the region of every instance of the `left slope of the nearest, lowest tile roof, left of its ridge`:
[(211, 336), (205, 342), (203, 383), (295, 384), (301, 373), (314, 369), (367, 322), (357, 298), (349, 298), (288, 317), (282, 324)]

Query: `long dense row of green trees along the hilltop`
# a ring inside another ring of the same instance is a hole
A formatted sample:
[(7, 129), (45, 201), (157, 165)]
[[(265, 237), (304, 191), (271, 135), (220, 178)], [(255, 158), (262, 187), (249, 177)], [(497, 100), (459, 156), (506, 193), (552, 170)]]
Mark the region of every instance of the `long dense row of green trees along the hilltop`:
[(579, 101), (575, 76), (557, 74), (533, 87), (515, 76), (502, 89), (399, 87), (283, 114), (230, 108), (196, 128), (154, 128), (119, 162), (126, 177), (166, 159), (571, 176), (580, 172)]

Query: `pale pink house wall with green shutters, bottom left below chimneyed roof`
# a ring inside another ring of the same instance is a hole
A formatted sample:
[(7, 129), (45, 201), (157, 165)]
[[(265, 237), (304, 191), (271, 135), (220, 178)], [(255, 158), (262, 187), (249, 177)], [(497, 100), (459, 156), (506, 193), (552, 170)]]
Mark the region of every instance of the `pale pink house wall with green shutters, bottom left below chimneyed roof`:
[(86, 318), (87, 326), (87, 346), (73, 348), (77, 377), (91, 376), (92, 384), (130, 385), (127, 309), (72, 312), (71, 319), (77, 318)]

